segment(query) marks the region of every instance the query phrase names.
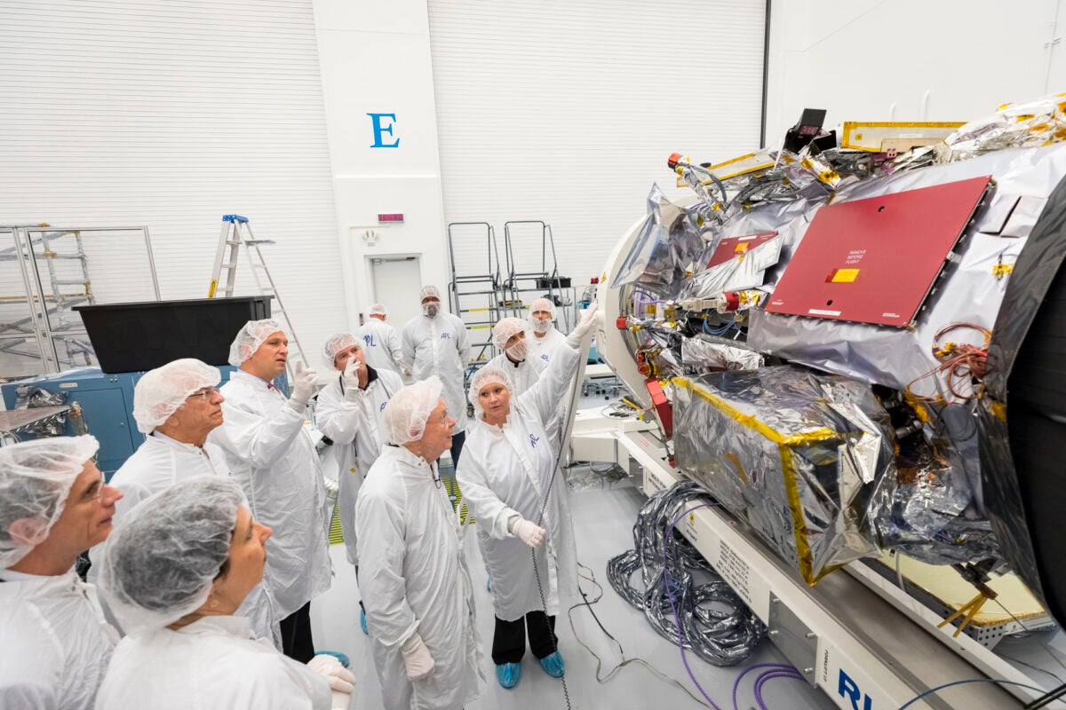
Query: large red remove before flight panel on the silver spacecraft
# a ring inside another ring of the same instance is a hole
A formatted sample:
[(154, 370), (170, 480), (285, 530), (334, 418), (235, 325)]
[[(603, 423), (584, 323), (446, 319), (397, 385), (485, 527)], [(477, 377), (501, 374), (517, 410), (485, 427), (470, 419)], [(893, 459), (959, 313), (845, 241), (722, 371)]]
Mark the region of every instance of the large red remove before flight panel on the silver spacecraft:
[(971, 178), (822, 208), (766, 310), (909, 326), (989, 182)]

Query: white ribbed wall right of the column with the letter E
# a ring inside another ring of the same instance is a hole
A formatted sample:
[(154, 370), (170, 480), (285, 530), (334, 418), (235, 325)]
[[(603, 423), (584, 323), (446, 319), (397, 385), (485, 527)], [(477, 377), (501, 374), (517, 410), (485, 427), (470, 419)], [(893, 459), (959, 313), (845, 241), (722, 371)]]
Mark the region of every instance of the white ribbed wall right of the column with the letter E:
[[(651, 184), (674, 185), (672, 152), (716, 162), (759, 141), (761, 1), (427, 2), (445, 215), (492, 224), (501, 259), (504, 222), (543, 220), (560, 274), (586, 284)], [(540, 270), (539, 228), (515, 233), (517, 270)], [(484, 273), (468, 244), (457, 261)]]

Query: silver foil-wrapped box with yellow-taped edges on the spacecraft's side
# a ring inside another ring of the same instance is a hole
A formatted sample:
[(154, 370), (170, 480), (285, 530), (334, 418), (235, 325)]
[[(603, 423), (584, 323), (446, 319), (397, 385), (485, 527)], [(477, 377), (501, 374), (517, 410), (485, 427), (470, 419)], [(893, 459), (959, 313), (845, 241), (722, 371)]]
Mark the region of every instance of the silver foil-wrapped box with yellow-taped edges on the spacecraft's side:
[(892, 429), (867, 383), (784, 365), (674, 384), (678, 466), (808, 583), (876, 552), (868, 508)]

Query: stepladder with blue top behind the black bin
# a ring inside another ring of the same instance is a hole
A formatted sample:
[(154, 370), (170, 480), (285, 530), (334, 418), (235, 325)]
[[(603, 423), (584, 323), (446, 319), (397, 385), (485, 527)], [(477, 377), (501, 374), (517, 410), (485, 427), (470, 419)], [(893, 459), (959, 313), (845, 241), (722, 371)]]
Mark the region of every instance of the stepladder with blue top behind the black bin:
[[(274, 241), (255, 238), (247, 217), (242, 217), (239, 214), (222, 215), (222, 233), (219, 235), (219, 251), (214, 258), (214, 273), (211, 276), (211, 287), (208, 291), (207, 297), (230, 298), (233, 295), (233, 286), (237, 285), (237, 265), (240, 260), (241, 246), (243, 245), (244, 255), (247, 258), (248, 266), (252, 268), (252, 277), (256, 281), (256, 290), (260, 295), (272, 296), (274, 298), (274, 303), (271, 307), (271, 317), (280, 320), (289, 335), (289, 363), (292, 362), (291, 356), (295, 354), (304, 361), (305, 365), (310, 367), (312, 366), (311, 361), (307, 359), (307, 354), (300, 346), (300, 339), (296, 337), (296, 331), (292, 327), (288, 312), (285, 310), (285, 303), (281, 302), (281, 295), (277, 293), (274, 278), (271, 277), (262, 252), (259, 251), (259, 247), (263, 244), (274, 244)], [(222, 281), (223, 271), (225, 271), (224, 283)], [(220, 284), (223, 284), (221, 288)], [(293, 374), (288, 364), (286, 365), (286, 369), (290, 370), (289, 378), (291, 380)]]

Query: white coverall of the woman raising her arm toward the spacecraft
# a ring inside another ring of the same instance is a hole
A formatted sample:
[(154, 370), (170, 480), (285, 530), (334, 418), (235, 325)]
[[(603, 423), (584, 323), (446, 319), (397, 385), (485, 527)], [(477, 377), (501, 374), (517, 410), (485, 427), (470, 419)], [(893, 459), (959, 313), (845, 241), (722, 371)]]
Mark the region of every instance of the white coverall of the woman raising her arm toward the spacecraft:
[[(502, 429), (474, 422), (455, 472), (463, 500), (478, 521), (478, 542), (492, 580), (492, 606), (505, 622), (545, 608), (530, 548), (507, 532), (512, 515), (521, 515), (547, 531), (534, 554), (548, 615), (559, 614), (560, 593), (572, 596), (578, 592), (566, 481), (555, 466), (559, 451), (545, 430), (565, 396), (577, 361), (578, 351), (564, 343), (539, 381), (526, 394), (511, 398), (511, 414)], [(542, 521), (545, 496), (548, 505)]]

